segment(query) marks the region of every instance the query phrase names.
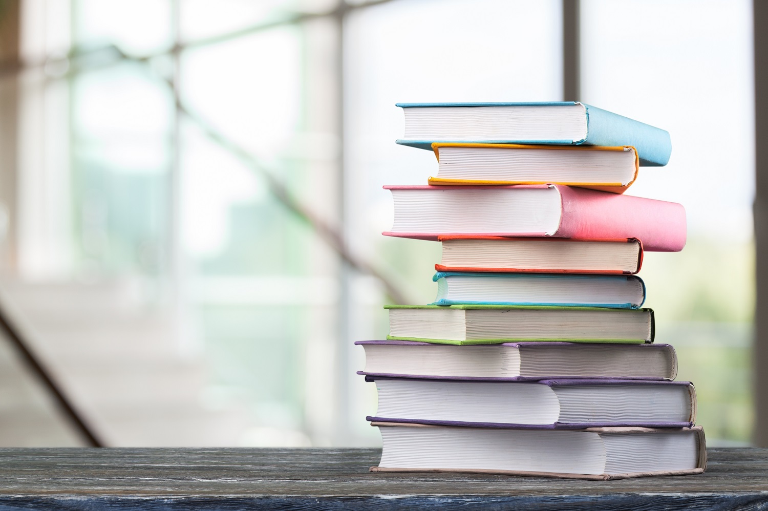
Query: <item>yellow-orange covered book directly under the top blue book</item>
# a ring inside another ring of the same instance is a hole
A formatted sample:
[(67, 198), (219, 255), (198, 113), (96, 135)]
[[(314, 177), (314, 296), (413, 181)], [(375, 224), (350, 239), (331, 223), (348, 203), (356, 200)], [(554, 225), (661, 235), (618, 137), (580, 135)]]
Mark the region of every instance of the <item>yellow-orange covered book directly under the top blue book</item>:
[(640, 160), (631, 146), (432, 144), (429, 184), (568, 184), (623, 194)]

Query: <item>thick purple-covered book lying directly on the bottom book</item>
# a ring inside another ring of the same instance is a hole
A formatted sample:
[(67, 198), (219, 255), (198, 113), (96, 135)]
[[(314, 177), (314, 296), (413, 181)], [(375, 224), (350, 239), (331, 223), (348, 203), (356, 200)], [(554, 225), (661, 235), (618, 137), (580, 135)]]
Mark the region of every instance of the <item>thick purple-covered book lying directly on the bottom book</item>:
[(443, 426), (574, 430), (595, 426), (690, 427), (690, 382), (471, 381), (369, 376), (378, 409), (366, 420)]

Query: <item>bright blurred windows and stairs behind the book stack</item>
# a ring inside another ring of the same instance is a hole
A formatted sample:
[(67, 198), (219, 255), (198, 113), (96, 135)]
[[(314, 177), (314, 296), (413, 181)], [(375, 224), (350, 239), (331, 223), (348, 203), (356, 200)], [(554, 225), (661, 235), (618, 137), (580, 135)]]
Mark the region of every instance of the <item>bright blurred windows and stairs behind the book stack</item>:
[[(629, 193), (689, 239), (647, 306), (707, 443), (747, 445), (752, 2), (581, 0), (570, 50), (563, 0), (340, 2), (0, 1), (0, 306), (98, 442), (379, 445), (353, 341), (439, 259), (380, 235), (436, 169), (394, 104), (563, 99), (571, 51), (565, 99), (670, 131)], [(10, 337), (0, 446), (88, 443)]]

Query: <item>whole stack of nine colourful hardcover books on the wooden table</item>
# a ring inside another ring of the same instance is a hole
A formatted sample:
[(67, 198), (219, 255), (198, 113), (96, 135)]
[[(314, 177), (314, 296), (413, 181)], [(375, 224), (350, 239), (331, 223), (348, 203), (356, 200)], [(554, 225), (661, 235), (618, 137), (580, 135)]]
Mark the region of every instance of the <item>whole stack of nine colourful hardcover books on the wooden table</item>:
[(680, 204), (624, 195), (667, 131), (578, 102), (402, 104), (435, 152), (390, 186), (388, 236), (442, 243), (430, 305), (359, 341), (382, 434), (372, 471), (621, 479), (706, 466), (696, 393), (641, 308), (644, 251), (680, 251)]

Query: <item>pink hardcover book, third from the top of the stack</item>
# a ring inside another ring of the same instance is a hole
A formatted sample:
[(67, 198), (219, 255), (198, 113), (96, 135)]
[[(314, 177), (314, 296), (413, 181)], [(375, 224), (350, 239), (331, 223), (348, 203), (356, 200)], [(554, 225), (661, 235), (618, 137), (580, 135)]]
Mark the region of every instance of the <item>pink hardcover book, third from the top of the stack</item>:
[(559, 184), (390, 186), (395, 220), (387, 236), (636, 238), (646, 251), (685, 245), (680, 204)]

